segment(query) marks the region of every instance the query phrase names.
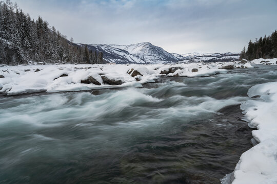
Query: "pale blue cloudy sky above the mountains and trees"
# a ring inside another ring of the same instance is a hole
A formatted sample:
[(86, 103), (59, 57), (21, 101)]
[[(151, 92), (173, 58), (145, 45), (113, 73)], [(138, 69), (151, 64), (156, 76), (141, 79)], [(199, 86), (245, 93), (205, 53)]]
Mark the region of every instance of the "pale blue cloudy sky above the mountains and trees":
[(277, 0), (12, 0), (75, 43), (151, 42), (168, 52), (240, 52), (277, 29)]

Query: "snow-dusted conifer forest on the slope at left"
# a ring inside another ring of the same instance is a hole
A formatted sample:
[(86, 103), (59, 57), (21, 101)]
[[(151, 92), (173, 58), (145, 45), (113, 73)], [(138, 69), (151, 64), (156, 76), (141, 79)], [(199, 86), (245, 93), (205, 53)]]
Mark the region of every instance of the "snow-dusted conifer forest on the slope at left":
[(103, 53), (73, 43), (38, 17), (32, 19), (16, 3), (0, 1), (0, 64), (102, 63)]

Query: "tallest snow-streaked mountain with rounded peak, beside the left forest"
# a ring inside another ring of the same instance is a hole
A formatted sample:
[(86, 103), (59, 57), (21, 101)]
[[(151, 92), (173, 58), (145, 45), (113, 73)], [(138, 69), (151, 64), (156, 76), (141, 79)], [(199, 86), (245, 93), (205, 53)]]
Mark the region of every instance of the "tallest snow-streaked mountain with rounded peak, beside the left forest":
[[(79, 45), (85, 44), (79, 43)], [(184, 58), (177, 58), (149, 42), (117, 45), (117, 44), (88, 44), (88, 49), (103, 53), (103, 60), (117, 64), (123, 63), (171, 63)]]

